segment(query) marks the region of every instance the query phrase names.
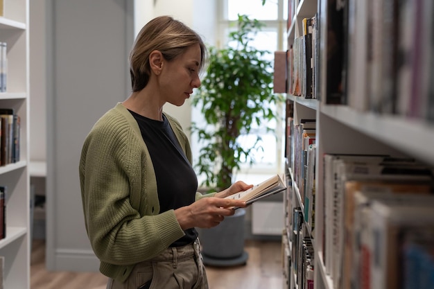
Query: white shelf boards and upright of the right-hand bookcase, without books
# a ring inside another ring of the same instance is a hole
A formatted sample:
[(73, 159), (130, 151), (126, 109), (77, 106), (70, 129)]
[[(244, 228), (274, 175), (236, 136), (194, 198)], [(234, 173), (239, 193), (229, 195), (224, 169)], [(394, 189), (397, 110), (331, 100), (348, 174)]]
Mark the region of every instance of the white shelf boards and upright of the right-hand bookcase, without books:
[[(430, 166), (434, 165), (434, 125), (423, 119), (408, 119), (392, 114), (376, 114), (361, 112), (347, 105), (328, 105), (325, 103), (327, 60), (324, 56), (327, 40), (327, 0), (301, 0), (294, 11), (293, 20), (288, 28), (288, 44), (302, 33), (302, 19), (313, 17), (320, 10), (320, 100), (305, 99), (288, 94), (294, 104), (293, 118), (316, 119), (316, 164), (315, 164), (315, 229), (306, 225), (308, 234), (313, 238), (315, 270), (314, 286), (317, 289), (333, 289), (333, 279), (327, 274), (322, 254), (324, 220), (324, 180), (323, 158), (325, 153), (358, 153), (388, 154), (394, 156), (413, 157)], [(289, 45), (288, 45), (289, 47)], [(352, 90), (356, 98), (367, 97), (363, 91)], [(288, 172), (291, 175), (291, 170)], [(291, 187), (292, 207), (303, 209), (299, 184)], [(290, 228), (286, 228), (289, 229)], [(293, 246), (289, 242), (288, 248)], [(286, 249), (288, 249), (286, 248)], [(296, 277), (290, 268), (292, 279)], [(286, 288), (286, 287), (284, 287)], [(294, 280), (290, 280), (288, 288), (298, 288)]]

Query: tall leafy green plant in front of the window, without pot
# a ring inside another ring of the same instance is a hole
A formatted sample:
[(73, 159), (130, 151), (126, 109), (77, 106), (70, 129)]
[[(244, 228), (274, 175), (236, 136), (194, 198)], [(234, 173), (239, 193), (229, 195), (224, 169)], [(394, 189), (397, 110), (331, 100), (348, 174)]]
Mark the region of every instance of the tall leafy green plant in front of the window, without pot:
[(251, 152), (261, 149), (260, 138), (246, 148), (238, 137), (249, 134), (253, 123), (275, 119), (272, 104), (281, 100), (272, 92), (272, 63), (263, 57), (268, 51), (250, 46), (263, 23), (238, 15), (237, 24), (238, 29), (229, 33), (229, 43), (234, 45), (209, 49), (207, 73), (192, 99), (206, 122), (191, 126), (204, 144), (196, 168), (213, 190), (230, 186), (242, 161), (254, 162)]

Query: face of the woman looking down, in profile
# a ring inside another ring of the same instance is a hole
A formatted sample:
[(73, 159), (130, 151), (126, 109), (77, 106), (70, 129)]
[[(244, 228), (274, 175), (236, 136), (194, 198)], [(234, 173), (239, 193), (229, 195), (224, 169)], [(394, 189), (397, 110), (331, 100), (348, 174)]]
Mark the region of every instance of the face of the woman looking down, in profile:
[(159, 84), (161, 95), (167, 103), (181, 106), (193, 93), (193, 88), (200, 87), (200, 56), (200, 46), (196, 44), (175, 60), (164, 62)]

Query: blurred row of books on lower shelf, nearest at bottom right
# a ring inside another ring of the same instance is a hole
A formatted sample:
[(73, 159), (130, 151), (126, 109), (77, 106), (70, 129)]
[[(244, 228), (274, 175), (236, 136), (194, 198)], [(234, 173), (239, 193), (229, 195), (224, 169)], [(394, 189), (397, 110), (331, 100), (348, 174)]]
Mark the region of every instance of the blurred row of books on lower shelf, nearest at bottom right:
[[(433, 182), (433, 168), (414, 159), (324, 155), (320, 234), (334, 289), (404, 288), (400, 248), (418, 231), (434, 230)], [(434, 243), (434, 234), (426, 237)]]

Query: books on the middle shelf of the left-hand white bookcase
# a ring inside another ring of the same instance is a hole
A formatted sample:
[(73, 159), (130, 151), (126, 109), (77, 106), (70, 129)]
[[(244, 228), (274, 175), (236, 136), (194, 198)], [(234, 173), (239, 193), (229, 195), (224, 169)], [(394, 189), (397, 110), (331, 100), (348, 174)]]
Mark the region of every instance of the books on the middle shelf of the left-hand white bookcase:
[(21, 119), (12, 108), (0, 108), (0, 166), (19, 161)]

